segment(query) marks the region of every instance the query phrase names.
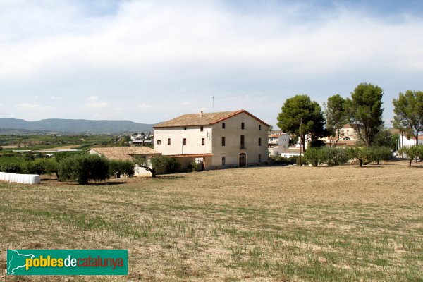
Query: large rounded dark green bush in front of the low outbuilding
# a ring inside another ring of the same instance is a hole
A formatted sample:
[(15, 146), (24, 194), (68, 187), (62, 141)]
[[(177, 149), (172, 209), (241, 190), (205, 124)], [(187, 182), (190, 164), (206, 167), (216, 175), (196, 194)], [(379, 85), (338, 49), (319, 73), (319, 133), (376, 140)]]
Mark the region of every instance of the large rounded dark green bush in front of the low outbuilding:
[(90, 180), (109, 178), (109, 161), (94, 154), (77, 154), (59, 163), (59, 180), (76, 180), (85, 185)]

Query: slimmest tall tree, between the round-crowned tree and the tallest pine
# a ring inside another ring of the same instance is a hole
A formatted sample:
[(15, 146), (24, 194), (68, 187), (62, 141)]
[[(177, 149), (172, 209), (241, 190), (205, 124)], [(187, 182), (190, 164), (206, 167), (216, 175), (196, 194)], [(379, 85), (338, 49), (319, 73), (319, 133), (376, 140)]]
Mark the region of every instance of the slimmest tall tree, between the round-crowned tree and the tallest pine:
[[(340, 94), (328, 98), (327, 104), (324, 104), (324, 114), (326, 116), (326, 130), (331, 135), (331, 147), (336, 147), (341, 135), (341, 128), (348, 123), (348, 111), (345, 105), (345, 99)], [(336, 137), (335, 142), (333, 138)]]

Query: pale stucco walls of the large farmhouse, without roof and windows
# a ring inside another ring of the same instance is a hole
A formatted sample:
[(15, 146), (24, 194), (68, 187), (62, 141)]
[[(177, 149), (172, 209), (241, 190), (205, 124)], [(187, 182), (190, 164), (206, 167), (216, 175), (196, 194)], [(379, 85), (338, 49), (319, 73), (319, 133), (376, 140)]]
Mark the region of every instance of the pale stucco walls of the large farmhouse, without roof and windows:
[[(222, 128), (222, 123), (225, 123), (225, 128)], [(244, 129), (241, 129), (241, 123), (244, 123)], [(226, 157), (226, 166), (238, 166), (240, 153), (246, 154), (247, 164), (257, 164), (259, 154), (262, 163), (268, 161), (268, 130), (264, 123), (240, 113), (214, 125), (204, 125), (203, 131), (200, 131), (200, 126), (187, 126), (186, 130), (184, 127), (154, 128), (154, 149), (163, 155), (212, 153), (207, 168), (221, 167), (222, 157)], [(245, 149), (240, 148), (241, 135), (245, 136)], [(221, 137), (226, 138), (225, 146), (221, 145)], [(171, 138), (171, 145), (168, 145), (168, 138)], [(183, 138), (187, 140), (185, 146)]]

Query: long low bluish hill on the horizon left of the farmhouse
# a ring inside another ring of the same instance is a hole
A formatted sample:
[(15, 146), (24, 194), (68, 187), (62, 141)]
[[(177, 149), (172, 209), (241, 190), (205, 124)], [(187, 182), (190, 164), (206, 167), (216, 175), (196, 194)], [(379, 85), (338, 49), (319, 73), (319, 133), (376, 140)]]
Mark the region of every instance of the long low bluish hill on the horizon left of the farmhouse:
[(25, 121), (17, 118), (0, 118), (0, 134), (29, 133), (94, 133), (121, 134), (152, 130), (154, 124), (133, 121), (91, 121), (87, 119), (48, 118)]

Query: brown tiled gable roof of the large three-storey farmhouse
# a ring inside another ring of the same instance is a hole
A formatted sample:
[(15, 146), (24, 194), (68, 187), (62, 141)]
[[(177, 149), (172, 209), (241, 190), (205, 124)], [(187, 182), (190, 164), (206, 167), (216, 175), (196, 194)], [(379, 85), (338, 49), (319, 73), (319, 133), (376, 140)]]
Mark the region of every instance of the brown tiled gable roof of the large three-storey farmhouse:
[(236, 116), (237, 114), (245, 113), (252, 118), (255, 118), (260, 123), (269, 126), (269, 124), (265, 123), (264, 121), (260, 120), (256, 116), (253, 116), (249, 112), (245, 110), (239, 111), (219, 111), (216, 113), (203, 113), (202, 116), (199, 114), (184, 114), (182, 116), (178, 116), (177, 118), (173, 118), (170, 121), (165, 121), (163, 123), (159, 123), (154, 125), (154, 128), (171, 128), (171, 127), (179, 127), (179, 126), (195, 126), (195, 125), (212, 125), (214, 123), (219, 123), (220, 121), (224, 121), (227, 118), (231, 118), (232, 116)]

